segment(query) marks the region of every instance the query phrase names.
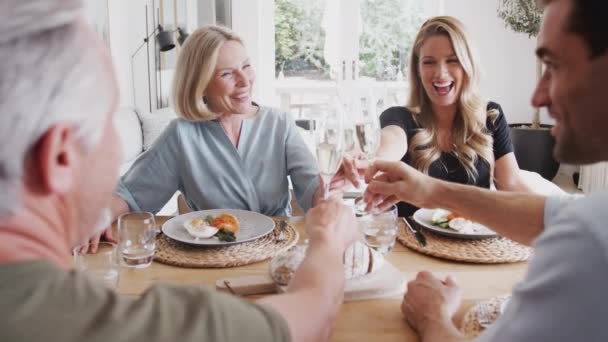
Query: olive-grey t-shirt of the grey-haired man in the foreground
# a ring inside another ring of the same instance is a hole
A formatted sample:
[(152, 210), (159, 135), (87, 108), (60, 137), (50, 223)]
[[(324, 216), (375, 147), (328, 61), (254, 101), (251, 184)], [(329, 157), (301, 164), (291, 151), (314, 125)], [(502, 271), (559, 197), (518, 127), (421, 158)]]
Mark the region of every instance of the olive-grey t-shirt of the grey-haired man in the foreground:
[(274, 310), (199, 287), (127, 298), (45, 261), (0, 265), (0, 341), (289, 341)]

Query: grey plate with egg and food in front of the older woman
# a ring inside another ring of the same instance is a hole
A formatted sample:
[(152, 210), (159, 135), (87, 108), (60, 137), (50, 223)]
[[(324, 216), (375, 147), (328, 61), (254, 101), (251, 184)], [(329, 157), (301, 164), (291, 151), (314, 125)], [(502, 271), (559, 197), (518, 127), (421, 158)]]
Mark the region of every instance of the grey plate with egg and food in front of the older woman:
[(227, 246), (266, 236), (274, 221), (246, 210), (212, 209), (176, 216), (162, 226), (167, 237), (192, 245)]

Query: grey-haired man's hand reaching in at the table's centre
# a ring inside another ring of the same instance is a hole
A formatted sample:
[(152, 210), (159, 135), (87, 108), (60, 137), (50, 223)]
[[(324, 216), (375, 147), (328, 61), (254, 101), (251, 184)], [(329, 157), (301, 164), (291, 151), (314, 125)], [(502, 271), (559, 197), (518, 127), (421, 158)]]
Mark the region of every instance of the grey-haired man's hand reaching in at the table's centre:
[(338, 199), (323, 201), (308, 211), (306, 232), (311, 245), (329, 244), (341, 252), (358, 237), (355, 214)]

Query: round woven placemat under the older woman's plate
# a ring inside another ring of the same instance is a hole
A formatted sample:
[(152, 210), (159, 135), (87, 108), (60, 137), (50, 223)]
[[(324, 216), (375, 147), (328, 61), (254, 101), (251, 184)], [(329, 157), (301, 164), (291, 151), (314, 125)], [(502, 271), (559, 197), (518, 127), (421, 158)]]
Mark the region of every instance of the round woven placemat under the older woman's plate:
[[(275, 223), (278, 220), (275, 219)], [(298, 242), (300, 234), (289, 225), (283, 241), (277, 241), (278, 224), (268, 235), (251, 242), (226, 247), (188, 245), (160, 234), (156, 240), (154, 260), (163, 264), (189, 268), (225, 268), (253, 264), (281, 253)]]

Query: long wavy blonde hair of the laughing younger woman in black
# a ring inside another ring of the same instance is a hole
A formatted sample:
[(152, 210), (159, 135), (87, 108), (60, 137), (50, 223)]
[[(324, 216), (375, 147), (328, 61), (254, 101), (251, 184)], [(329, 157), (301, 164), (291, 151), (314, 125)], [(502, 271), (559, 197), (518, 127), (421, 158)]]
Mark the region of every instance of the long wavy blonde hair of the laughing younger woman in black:
[(463, 24), (456, 18), (441, 16), (426, 21), (414, 42), (409, 62), (410, 94), (408, 109), (420, 126), (409, 146), (412, 164), (427, 173), (431, 164), (441, 156), (438, 141), (438, 126), (431, 107), (431, 100), (422, 86), (420, 77), (420, 49), (431, 37), (445, 36), (450, 39), (454, 52), (462, 66), (465, 77), (458, 100), (457, 114), (452, 125), (451, 151), (464, 166), (469, 179), (478, 176), (475, 164), (481, 158), (490, 167), (493, 177), (493, 139), (488, 133), (488, 116), (495, 117), (496, 111), (487, 111), (487, 101), (479, 95), (480, 68), (477, 56)]

